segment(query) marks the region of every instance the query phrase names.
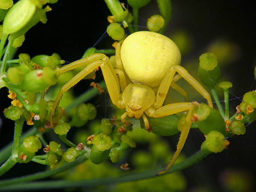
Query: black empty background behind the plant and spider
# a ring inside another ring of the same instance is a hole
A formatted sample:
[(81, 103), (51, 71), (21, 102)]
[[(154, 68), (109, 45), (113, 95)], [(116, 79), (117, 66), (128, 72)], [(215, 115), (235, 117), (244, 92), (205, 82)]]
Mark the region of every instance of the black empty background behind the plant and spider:
[[(125, 1), (124, 1), (125, 2)], [(253, 1), (236, 0), (173, 0), (173, 14), (166, 35), (176, 29), (183, 29), (193, 38), (192, 51), (182, 62), (191, 56), (199, 56), (205, 48), (216, 38), (225, 38), (240, 48), (239, 60), (222, 68), (222, 76), (233, 83), (230, 90), (234, 95), (242, 97), (247, 91), (255, 89), (254, 67), (256, 64), (256, 12)], [(111, 15), (104, 0), (59, 0), (50, 5), (52, 11), (47, 13), (47, 24), (39, 23), (29, 30), (26, 40), (18, 53), (25, 52), (35, 56), (38, 54), (52, 55), (57, 52), (67, 62), (81, 58), (88, 47), (92, 47), (105, 32), (108, 26), (106, 17)], [(125, 2), (125, 6), (127, 3)], [(131, 7), (128, 6), (131, 11)], [(151, 15), (159, 14), (155, 0), (148, 7), (140, 10), (140, 26), (145, 27), (145, 20)], [(140, 30), (146, 30), (140, 28)], [(104, 38), (96, 48), (111, 48), (111, 39)], [(17, 55), (16, 55), (17, 58)], [(182, 64), (181, 64), (182, 65)], [(77, 85), (77, 94), (84, 87)], [(10, 105), (7, 89), (0, 90), (1, 109)], [(231, 96), (232, 97), (232, 96)], [(231, 101), (233, 108), (240, 101)], [(13, 122), (3, 117), (0, 128), (0, 147), (12, 141)], [(104, 114), (102, 115), (104, 116)], [(9, 126), (11, 125), (11, 126)], [(256, 176), (256, 128), (255, 123), (247, 126), (246, 134), (229, 139), (228, 150), (212, 154), (200, 162), (200, 168), (194, 166), (186, 171), (188, 189), (195, 186), (210, 185), (219, 188), (219, 175), (225, 169), (245, 170)], [(197, 151), (201, 145), (201, 134), (191, 130), (185, 144), (184, 153), (189, 156)], [(8, 176), (8, 175), (7, 175)], [(12, 177), (9, 174), (9, 177)]]

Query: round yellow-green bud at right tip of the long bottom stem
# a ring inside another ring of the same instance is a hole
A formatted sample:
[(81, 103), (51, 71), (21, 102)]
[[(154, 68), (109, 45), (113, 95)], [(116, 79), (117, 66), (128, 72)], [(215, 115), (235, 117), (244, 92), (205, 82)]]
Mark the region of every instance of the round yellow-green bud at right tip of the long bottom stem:
[(224, 140), (224, 135), (218, 131), (210, 131), (206, 137), (206, 145), (209, 151), (218, 153), (226, 148), (226, 141)]

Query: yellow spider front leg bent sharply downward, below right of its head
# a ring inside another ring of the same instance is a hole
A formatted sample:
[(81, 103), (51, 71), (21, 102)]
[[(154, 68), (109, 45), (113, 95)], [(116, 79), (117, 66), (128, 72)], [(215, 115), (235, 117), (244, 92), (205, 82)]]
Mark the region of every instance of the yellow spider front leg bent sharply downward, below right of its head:
[(166, 168), (163, 171), (157, 172), (157, 175), (161, 175), (161, 174), (167, 172), (172, 167), (173, 163), (179, 156), (180, 151), (182, 150), (182, 148), (186, 142), (186, 138), (188, 137), (189, 129), (192, 124), (192, 121), (190, 119), (192, 116), (193, 107), (194, 107), (194, 105), (192, 103), (184, 102), (184, 103), (173, 103), (173, 104), (165, 105), (157, 110), (154, 110), (153, 108), (149, 108), (147, 111), (145, 111), (145, 113), (148, 116), (152, 116), (155, 118), (172, 115), (172, 114), (179, 113), (182, 111), (188, 111), (188, 113), (186, 115), (185, 122), (184, 122), (183, 129), (180, 134), (180, 139), (177, 144), (177, 150), (175, 151), (175, 154), (173, 155), (170, 162), (167, 164)]

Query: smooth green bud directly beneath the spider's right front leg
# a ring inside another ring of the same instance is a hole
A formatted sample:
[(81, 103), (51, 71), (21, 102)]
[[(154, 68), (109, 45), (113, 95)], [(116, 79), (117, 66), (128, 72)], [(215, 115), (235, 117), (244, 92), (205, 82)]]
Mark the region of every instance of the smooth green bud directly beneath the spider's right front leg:
[[(152, 132), (160, 136), (171, 136), (179, 133), (177, 123), (180, 119), (176, 114), (165, 117), (149, 117), (147, 116), (149, 124), (152, 126)], [(140, 127), (144, 128), (143, 118), (140, 118)]]

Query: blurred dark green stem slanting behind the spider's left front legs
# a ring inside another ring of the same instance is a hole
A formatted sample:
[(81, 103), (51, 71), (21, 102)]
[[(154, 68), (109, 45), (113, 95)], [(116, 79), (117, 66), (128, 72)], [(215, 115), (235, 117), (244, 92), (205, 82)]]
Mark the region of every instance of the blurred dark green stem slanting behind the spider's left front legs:
[[(99, 83), (99, 86), (105, 87), (106, 86), (105, 81), (101, 81)], [(80, 95), (79, 97), (74, 99), (73, 102), (71, 102), (70, 105), (68, 105), (65, 108), (65, 110), (66, 110), (65, 112), (68, 113), (71, 109), (76, 108), (81, 103), (89, 101), (90, 99), (92, 99), (94, 96), (96, 96), (98, 94), (99, 94), (99, 91), (96, 89), (91, 88), (91, 89), (87, 90), (85, 93), (83, 93), (82, 95)]]

